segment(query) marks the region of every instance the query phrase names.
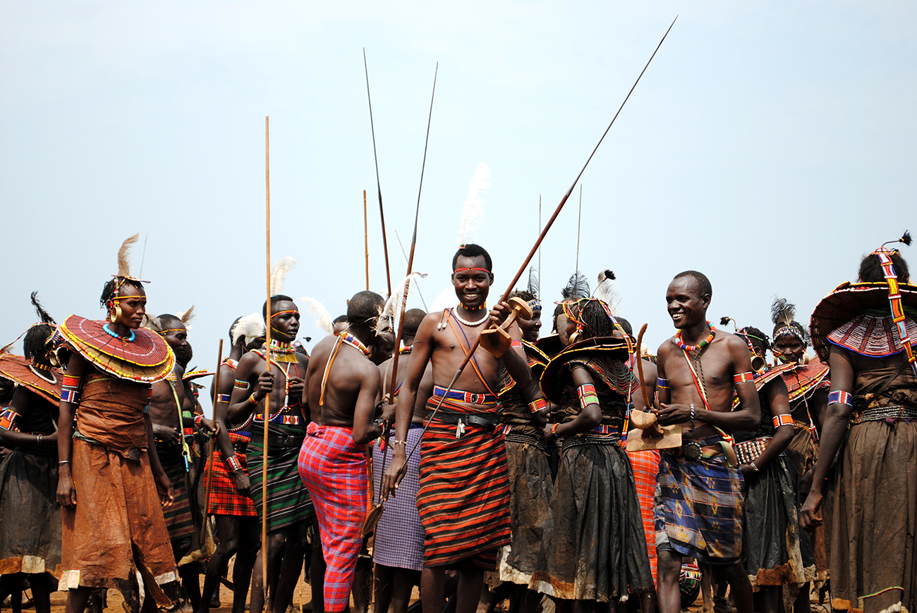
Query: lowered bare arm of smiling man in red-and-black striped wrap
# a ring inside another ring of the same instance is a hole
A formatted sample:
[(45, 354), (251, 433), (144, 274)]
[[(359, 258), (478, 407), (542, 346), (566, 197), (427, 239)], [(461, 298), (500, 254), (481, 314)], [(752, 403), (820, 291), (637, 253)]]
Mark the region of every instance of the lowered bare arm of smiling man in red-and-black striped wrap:
[(407, 461), (405, 447), (407, 446), (407, 431), (414, 418), (414, 400), (417, 389), (424, 378), (427, 362), (433, 356), (434, 334), (439, 313), (430, 313), (421, 322), (414, 336), (414, 345), (411, 349), (411, 360), (404, 369), (404, 378), (401, 390), (398, 392), (398, 406), (395, 409), (395, 440), (392, 442), (392, 463), (382, 476), (381, 498), (387, 500), (393, 495), (395, 488), (404, 476), (404, 467)]

